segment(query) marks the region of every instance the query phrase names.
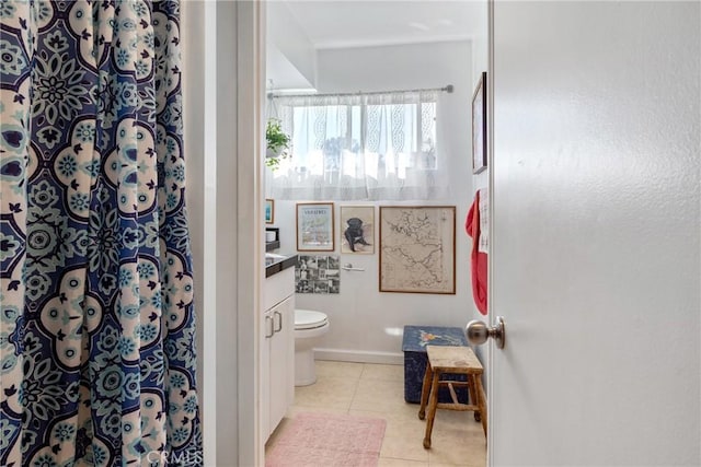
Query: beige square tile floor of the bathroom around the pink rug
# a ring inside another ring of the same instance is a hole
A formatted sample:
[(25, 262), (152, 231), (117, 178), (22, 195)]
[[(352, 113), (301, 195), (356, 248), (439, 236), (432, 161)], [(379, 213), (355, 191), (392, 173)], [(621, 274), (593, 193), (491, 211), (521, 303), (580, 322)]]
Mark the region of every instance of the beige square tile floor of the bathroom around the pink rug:
[(424, 450), (426, 422), (418, 419), (418, 404), (404, 401), (402, 365), (317, 361), (317, 383), (295, 388), (295, 405), (266, 450), (296, 413), (309, 411), (386, 419), (379, 467), (486, 465), (486, 441), (473, 412), (438, 410), (432, 447)]

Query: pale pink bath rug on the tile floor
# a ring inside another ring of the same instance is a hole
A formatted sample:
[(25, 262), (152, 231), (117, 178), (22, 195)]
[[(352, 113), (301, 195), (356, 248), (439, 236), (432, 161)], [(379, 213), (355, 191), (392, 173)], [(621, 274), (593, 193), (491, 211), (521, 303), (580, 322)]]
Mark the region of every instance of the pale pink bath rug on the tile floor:
[(266, 467), (374, 467), (387, 422), (335, 413), (297, 415), (266, 456)]

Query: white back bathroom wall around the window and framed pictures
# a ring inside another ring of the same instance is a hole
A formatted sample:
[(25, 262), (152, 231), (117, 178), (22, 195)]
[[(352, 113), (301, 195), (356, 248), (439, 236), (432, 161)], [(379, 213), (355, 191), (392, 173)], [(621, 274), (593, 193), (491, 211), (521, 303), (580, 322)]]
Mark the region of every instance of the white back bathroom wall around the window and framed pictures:
[[(432, 203), (457, 207), (457, 293), (380, 293), (376, 247), (376, 254), (371, 256), (342, 255), (342, 264), (352, 262), (366, 270), (342, 271), (340, 294), (296, 295), (297, 307), (320, 310), (330, 317), (331, 330), (319, 345), (318, 358), (400, 363), (401, 329), (404, 325), (463, 327), (472, 317), (471, 240), (463, 227), (472, 198), (469, 137), (473, 89), (471, 44), (455, 42), (320, 50), (318, 67), (318, 89), (323, 93), (455, 86), (452, 94), (444, 95), (445, 105), (437, 116), (440, 157), (451, 167), (450, 195)], [(380, 205), (389, 203), (375, 203)], [(416, 206), (417, 201), (406, 205)], [(340, 238), (338, 206), (336, 202), (336, 238)], [(379, 210), (376, 209), (376, 225), (378, 221)], [(295, 252), (295, 201), (276, 200), (274, 226), (280, 227), (280, 252)], [(336, 254), (338, 252), (340, 241), (336, 240)]]

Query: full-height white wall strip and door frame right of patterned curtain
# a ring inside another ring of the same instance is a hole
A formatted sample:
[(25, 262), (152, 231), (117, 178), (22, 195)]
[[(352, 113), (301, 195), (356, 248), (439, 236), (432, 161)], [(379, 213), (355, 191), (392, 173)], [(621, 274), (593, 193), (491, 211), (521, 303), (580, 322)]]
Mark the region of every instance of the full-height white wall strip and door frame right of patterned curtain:
[(255, 337), (263, 268), (250, 254), (263, 250), (256, 157), (263, 140), (262, 5), (183, 2), (187, 211), (205, 466), (253, 466), (263, 457)]

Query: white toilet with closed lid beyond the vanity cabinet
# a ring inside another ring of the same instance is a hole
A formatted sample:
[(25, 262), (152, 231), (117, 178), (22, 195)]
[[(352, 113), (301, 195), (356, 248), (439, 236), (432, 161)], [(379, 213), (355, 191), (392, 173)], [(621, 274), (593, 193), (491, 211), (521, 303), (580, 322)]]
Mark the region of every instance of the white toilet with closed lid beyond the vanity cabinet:
[(325, 313), (295, 310), (295, 386), (309, 386), (317, 382), (314, 343), (329, 331)]

